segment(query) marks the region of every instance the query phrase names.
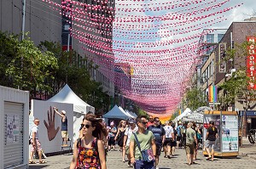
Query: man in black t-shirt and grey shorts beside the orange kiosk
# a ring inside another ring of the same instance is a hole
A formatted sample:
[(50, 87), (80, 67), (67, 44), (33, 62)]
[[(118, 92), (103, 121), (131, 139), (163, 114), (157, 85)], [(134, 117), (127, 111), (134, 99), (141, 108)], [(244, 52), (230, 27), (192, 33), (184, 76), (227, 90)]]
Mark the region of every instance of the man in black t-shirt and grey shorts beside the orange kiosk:
[[(217, 128), (214, 127), (214, 121), (210, 121), (210, 127), (207, 128), (207, 140), (205, 143), (207, 154), (208, 154), (207, 160), (212, 158), (212, 161), (213, 161), (214, 145), (217, 137), (218, 137), (218, 131), (217, 131)], [(212, 149), (211, 152), (210, 152), (210, 149)]]

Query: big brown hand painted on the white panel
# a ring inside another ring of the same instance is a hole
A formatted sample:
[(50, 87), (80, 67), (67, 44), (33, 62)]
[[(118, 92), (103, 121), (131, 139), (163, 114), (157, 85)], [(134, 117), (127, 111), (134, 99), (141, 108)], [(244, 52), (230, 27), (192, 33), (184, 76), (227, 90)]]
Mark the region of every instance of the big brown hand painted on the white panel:
[(53, 140), (60, 130), (60, 127), (55, 129), (55, 111), (52, 112), (51, 106), (49, 106), (48, 123), (44, 120), (44, 126), (47, 128), (49, 141)]

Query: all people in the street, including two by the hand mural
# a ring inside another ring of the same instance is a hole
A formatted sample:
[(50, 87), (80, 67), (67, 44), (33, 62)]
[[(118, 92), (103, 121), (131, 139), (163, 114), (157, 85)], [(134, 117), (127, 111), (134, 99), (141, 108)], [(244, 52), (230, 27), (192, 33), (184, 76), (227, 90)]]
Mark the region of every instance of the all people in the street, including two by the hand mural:
[[(57, 112), (61, 115), (64, 127), (61, 129), (63, 144), (67, 144), (66, 112)], [(32, 155), (35, 149), (38, 151), (39, 162), (42, 160), (42, 148), (38, 138), (39, 121), (34, 120), (34, 126), (30, 132), (32, 143)], [(64, 132), (65, 133), (64, 133)], [(116, 126), (114, 121), (109, 126), (101, 118), (96, 118), (92, 113), (84, 116), (79, 129), (79, 139), (74, 143), (73, 160), (70, 168), (107, 168), (107, 152), (120, 151), (120, 161), (127, 162), (128, 167), (136, 169), (159, 169), (160, 155), (172, 159), (176, 149), (184, 149), (187, 156), (187, 165), (193, 165), (196, 161), (197, 149), (202, 143), (202, 127), (195, 122), (183, 123), (178, 121), (177, 126), (172, 121), (161, 124), (159, 117), (138, 116), (136, 119), (119, 121)], [(207, 128), (205, 149), (207, 160), (214, 160), (214, 145), (218, 137), (214, 122), (210, 121)], [(116, 148), (116, 144), (118, 148)]]

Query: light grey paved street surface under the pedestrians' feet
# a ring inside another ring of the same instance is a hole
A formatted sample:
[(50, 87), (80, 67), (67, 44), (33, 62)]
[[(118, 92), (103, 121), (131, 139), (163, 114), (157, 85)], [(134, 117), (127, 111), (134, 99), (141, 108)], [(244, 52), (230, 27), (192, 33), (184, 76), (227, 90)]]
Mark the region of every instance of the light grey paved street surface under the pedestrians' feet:
[[(55, 155), (49, 156), (45, 161), (46, 164), (30, 165), (29, 169), (67, 169), (72, 160), (72, 155)], [(127, 162), (121, 161), (121, 153), (119, 151), (110, 151), (107, 156), (108, 169), (129, 169)], [(247, 169), (255, 168), (256, 161), (247, 156), (238, 156), (233, 159), (216, 158), (214, 161), (207, 161), (199, 151), (198, 160), (195, 165), (188, 166), (186, 164), (186, 156), (184, 149), (177, 149), (176, 155), (172, 159), (164, 158), (160, 155), (160, 169), (182, 169), (182, 168), (196, 168), (196, 169)]]

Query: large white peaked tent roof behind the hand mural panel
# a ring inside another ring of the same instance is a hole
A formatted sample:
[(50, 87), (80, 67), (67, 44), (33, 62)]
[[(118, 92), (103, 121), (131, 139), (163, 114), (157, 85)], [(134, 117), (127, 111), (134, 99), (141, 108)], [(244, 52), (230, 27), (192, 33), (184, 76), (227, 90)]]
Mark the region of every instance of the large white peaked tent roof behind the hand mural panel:
[(78, 113), (84, 112), (86, 114), (88, 111), (92, 111), (93, 113), (95, 111), (94, 107), (86, 104), (84, 100), (80, 99), (79, 96), (73, 93), (73, 90), (67, 84), (59, 93), (55, 94), (55, 96), (48, 101), (73, 104), (73, 111)]

